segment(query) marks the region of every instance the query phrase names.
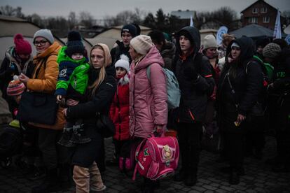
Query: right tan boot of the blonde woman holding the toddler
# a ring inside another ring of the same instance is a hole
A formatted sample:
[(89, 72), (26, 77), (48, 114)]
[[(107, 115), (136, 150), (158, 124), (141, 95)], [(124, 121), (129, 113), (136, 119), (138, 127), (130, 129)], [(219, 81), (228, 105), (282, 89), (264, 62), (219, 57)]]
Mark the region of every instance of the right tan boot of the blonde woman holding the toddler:
[(96, 162), (92, 164), (89, 168), (90, 173), (90, 191), (92, 192), (101, 192), (106, 190), (106, 186), (103, 183), (101, 173), (97, 167)]

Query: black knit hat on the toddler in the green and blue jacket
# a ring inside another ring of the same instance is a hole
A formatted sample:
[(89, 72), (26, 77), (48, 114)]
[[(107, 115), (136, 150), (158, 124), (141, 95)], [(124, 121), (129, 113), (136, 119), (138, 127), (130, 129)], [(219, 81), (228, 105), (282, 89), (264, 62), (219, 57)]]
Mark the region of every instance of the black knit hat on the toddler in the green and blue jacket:
[(85, 48), (81, 42), (81, 34), (78, 31), (70, 31), (67, 36), (67, 55), (71, 57), (74, 53), (84, 55)]

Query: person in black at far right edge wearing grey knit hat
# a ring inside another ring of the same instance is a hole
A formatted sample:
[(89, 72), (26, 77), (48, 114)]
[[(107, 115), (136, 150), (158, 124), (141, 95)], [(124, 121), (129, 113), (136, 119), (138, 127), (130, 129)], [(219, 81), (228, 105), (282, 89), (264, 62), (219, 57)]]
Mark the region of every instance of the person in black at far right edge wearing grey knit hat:
[[(279, 46), (279, 47), (278, 47)], [(276, 47), (277, 52), (273, 51)], [(270, 120), (273, 120), (277, 138), (277, 157), (272, 161), (273, 171), (290, 171), (290, 48), (272, 43), (263, 50), (266, 60), (272, 62), (273, 81), (268, 86), (272, 104)]]

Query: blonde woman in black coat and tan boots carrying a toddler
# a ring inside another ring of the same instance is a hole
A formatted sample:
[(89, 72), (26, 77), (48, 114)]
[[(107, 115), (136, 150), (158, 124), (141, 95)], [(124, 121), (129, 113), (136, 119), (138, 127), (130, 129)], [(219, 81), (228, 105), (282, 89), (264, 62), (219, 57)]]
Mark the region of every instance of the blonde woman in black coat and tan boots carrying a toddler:
[(77, 144), (72, 155), (76, 192), (102, 191), (106, 189), (95, 160), (100, 159), (104, 138), (96, 128), (97, 113), (109, 114), (109, 107), (116, 92), (116, 71), (111, 66), (107, 45), (97, 43), (90, 50), (90, 70), (85, 101), (65, 108), (69, 119), (83, 119), (84, 134), (90, 142)]

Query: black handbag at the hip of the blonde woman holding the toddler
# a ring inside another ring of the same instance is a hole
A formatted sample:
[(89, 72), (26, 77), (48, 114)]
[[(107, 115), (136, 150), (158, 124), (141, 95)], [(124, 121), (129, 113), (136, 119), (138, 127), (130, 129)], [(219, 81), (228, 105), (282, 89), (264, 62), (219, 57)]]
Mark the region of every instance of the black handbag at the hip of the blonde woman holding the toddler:
[(115, 124), (108, 115), (97, 113), (97, 131), (102, 134), (104, 138), (109, 138), (115, 133)]

